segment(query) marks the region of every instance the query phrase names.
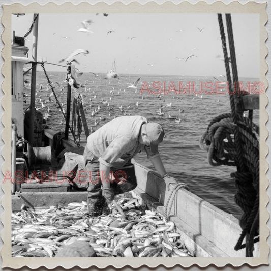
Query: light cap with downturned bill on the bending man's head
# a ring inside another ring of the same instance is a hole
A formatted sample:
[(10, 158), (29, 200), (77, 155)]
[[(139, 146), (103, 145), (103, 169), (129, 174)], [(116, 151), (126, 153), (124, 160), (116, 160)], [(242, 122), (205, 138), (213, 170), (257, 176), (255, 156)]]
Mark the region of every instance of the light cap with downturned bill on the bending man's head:
[(146, 133), (149, 139), (150, 151), (153, 154), (156, 154), (158, 151), (158, 144), (163, 141), (165, 132), (160, 124), (147, 123)]

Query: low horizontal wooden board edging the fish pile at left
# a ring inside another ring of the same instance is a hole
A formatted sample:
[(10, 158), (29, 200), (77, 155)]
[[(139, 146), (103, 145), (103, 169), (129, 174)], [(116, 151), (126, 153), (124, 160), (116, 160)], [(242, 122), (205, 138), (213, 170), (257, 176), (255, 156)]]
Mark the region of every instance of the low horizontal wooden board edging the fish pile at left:
[(12, 210), (18, 211), (22, 204), (26, 207), (67, 206), (71, 202), (87, 200), (87, 192), (22, 192), (12, 197)]

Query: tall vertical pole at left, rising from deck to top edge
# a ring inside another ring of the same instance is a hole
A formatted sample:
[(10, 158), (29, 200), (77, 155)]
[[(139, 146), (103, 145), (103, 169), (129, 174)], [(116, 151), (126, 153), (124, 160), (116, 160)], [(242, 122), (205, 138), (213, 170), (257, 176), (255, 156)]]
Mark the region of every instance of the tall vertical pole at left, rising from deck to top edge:
[[(33, 21), (38, 14), (34, 14)], [(39, 17), (36, 18), (33, 28), (33, 47), (32, 47), (32, 58), (37, 61), (37, 46), (38, 46), (38, 26)], [(37, 65), (32, 63), (32, 76), (31, 76), (31, 96), (30, 96), (30, 117), (29, 117), (29, 145), (33, 147), (34, 144), (34, 122), (35, 122), (35, 92), (36, 92), (36, 73)]]

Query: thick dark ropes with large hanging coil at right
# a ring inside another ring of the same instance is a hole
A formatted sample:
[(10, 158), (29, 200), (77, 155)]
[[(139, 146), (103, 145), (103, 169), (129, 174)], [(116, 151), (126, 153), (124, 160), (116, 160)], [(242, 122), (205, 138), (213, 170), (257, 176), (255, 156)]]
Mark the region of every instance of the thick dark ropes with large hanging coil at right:
[[(231, 81), (229, 57), (222, 15), (218, 14), (225, 68), (229, 86), (231, 113), (214, 118), (207, 131), (200, 139), (199, 145), (208, 151), (208, 162), (212, 166), (236, 166), (237, 171), (231, 173), (235, 178), (235, 202), (242, 208), (239, 225), (242, 233), (235, 250), (246, 247), (246, 257), (253, 257), (254, 243), (259, 238), (259, 127), (252, 122), (253, 111), (249, 118), (243, 116), (242, 94), (238, 88), (238, 73), (230, 14), (226, 14), (227, 32), (230, 48), (233, 82)], [(242, 245), (246, 237), (246, 244)]]

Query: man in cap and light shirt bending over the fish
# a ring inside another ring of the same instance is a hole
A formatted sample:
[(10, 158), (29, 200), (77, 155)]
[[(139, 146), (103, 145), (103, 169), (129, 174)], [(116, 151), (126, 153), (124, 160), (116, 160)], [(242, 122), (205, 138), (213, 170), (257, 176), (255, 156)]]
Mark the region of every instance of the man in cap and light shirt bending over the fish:
[[(148, 123), (142, 116), (122, 116), (113, 119), (87, 138), (84, 161), (88, 174), (87, 204), (89, 215), (99, 216), (105, 207), (108, 210), (114, 195), (136, 188), (136, 178), (111, 182), (110, 170), (116, 171), (131, 164), (131, 159), (145, 149), (147, 157), (163, 177), (167, 189), (177, 184), (167, 174), (158, 152), (163, 141), (164, 130), (157, 123)], [(100, 174), (99, 174), (100, 172)], [(139, 180), (140, 181), (140, 180)]]

